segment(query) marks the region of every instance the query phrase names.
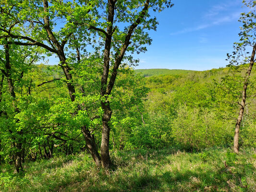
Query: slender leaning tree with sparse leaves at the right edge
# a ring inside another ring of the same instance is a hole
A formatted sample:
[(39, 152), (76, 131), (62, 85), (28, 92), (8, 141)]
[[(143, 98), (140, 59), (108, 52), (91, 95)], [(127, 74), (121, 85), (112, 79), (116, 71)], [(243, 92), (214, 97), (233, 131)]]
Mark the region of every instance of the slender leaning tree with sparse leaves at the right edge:
[[(241, 32), (239, 33), (240, 36), (240, 42), (234, 43), (234, 51), (232, 55), (227, 54), (228, 59), (230, 60), (231, 65), (238, 65), (238, 64), (244, 64), (246, 65), (249, 63), (249, 67), (245, 73), (244, 76), (244, 84), (243, 84), (243, 90), (242, 90), (242, 100), (239, 103), (240, 110), (239, 115), (236, 120), (235, 124), (235, 134), (234, 134), (234, 152), (239, 152), (239, 130), (240, 125), (243, 120), (244, 115), (244, 108), (246, 105), (246, 91), (248, 88), (248, 84), (250, 82), (250, 74), (253, 69), (253, 65), (255, 63), (255, 52), (256, 52), (256, 14), (255, 14), (255, 5), (256, 2), (253, 0), (250, 1), (243, 1), (244, 4), (251, 8), (252, 11), (248, 13), (242, 13), (240, 17), (240, 22), (243, 23), (243, 27), (241, 27)], [(248, 48), (252, 48), (252, 52), (250, 56), (248, 57), (247, 52)]]

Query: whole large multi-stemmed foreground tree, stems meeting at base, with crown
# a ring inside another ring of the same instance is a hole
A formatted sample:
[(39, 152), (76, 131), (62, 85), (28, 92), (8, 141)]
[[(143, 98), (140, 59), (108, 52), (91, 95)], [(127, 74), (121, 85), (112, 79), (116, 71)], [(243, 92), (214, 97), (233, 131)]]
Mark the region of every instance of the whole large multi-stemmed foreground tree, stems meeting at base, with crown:
[[(133, 63), (130, 54), (146, 51), (145, 44), (151, 44), (147, 30), (156, 30), (158, 24), (156, 17), (150, 15), (149, 10), (161, 12), (165, 7), (171, 7), (170, 0), (93, 0), (93, 1), (62, 1), (62, 0), (37, 0), (16, 2), (1, 1), (1, 12), (5, 18), (0, 21), (1, 38), (12, 38), (8, 44), (22, 46), (38, 46), (44, 48), (46, 53), (56, 54), (60, 60), (72, 102), (78, 102), (73, 115), (85, 114), (85, 108), (79, 106), (80, 93), (85, 96), (83, 86), (74, 83), (72, 62), (75, 50), (76, 63), (79, 68), (81, 57), (80, 50), (86, 43), (92, 45), (93, 51), (85, 55), (85, 60), (93, 60), (95, 53), (97, 59), (103, 60), (99, 93), (100, 104), (104, 113), (102, 115), (101, 149), (98, 154), (95, 137), (88, 127), (81, 126), (85, 137), (86, 146), (97, 166), (109, 168), (111, 161), (109, 155), (110, 108), (111, 91), (114, 87), (119, 67), (122, 61)], [(8, 28), (1, 26), (8, 20)], [(57, 21), (64, 25), (56, 30)], [(19, 29), (19, 30), (15, 30)], [(102, 54), (101, 54), (102, 51)], [(82, 59), (81, 59), (82, 58)], [(101, 64), (102, 61), (99, 61)], [(76, 69), (78, 69), (76, 68)], [(75, 87), (79, 86), (75, 91)], [(93, 93), (87, 93), (93, 95)], [(85, 117), (87, 119), (88, 117)], [(91, 117), (95, 119), (96, 117)]]

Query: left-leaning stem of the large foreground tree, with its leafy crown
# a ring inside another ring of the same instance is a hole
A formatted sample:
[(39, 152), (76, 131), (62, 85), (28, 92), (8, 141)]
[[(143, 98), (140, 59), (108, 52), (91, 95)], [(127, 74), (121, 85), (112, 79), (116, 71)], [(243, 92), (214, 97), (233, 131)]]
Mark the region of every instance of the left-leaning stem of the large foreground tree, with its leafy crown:
[[(49, 4), (48, 0), (43, 0), (42, 2), (37, 0), (20, 2), (1, 0), (0, 4), (0, 10), (3, 15), (0, 20), (0, 38), (10, 38), (11, 40), (8, 41), (8, 44), (44, 48), (45, 54), (48, 56), (57, 55), (60, 60), (59, 65), (66, 78), (70, 99), (74, 102), (75, 85), (71, 73), (71, 63), (67, 61), (67, 55), (72, 51), (69, 51), (67, 44), (69, 48), (76, 50), (77, 60), (80, 60), (79, 46), (87, 38), (86, 30), (84, 29), (89, 27), (87, 21), (90, 18), (86, 14), (94, 11), (91, 10), (91, 3), (85, 2), (81, 5), (69, 1), (54, 0), (50, 1)], [(93, 8), (95, 7), (98, 7), (98, 5), (95, 4)], [(81, 18), (83, 18), (83, 22), (80, 24), (77, 21), (81, 21)], [(58, 20), (61, 20), (64, 25), (61, 26), (60, 30), (55, 30)], [(5, 27), (6, 21), (9, 22), (8, 27)], [(78, 30), (79, 33), (75, 35)], [(83, 35), (84, 37), (81, 40)], [(72, 60), (72, 58), (68, 59)], [(78, 113), (78, 110), (79, 108), (74, 113)], [(100, 156), (95, 146), (94, 137), (86, 126), (82, 126), (82, 132), (85, 135), (87, 148), (99, 166), (101, 164)]]

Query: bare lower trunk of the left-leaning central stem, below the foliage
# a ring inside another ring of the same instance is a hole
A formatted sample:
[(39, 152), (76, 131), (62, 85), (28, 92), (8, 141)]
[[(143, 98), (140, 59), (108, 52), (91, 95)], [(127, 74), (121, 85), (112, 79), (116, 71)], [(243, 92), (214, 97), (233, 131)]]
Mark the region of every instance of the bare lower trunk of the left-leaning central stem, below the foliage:
[(101, 165), (101, 158), (98, 153), (98, 148), (97, 144), (95, 143), (95, 138), (93, 134), (90, 133), (87, 127), (83, 126), (82, 127), (82, 132), (85, 137), (85, 143), (86, 143), (86, 148), (91, 154), (96, 166), (100, 167)]

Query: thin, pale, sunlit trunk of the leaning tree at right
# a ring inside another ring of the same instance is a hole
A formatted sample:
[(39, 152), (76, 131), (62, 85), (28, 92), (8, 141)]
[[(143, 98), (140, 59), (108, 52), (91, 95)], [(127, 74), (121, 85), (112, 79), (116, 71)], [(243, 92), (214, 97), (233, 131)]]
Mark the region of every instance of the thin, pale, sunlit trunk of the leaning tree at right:
[(240, 103), (240, 112), (238, 115), (238, 118), (236, 120), (236, 124), (235, 124), (235, 135), (234, 135), (234, 152), (237, 154), (239, 152), (239, 130), (240, 130), (240, 124), (241, 121), (243, 119), (243, 115), (244, 115), (244, 107), (245, 107), (245, 100), (246, 100), (246, 90), (247, 90), (247, 86), (248, 86), (248, 82), (249, 82), (249, 76), (251, 74), (251, 71), (253, 69), (253, 65), (254, 65), (254, 58), (255, 58), (255, 52), (256, 52), (256, 43), (253, 47), (253, 51), (252, 51), (252, 55), (251, 55), (251, 59), (250, 59), (250, 65), (249, 68), (246, 72), (246, 76), (244, 79), (244, 89), (242, 92), (242, 101)]

